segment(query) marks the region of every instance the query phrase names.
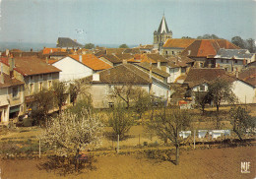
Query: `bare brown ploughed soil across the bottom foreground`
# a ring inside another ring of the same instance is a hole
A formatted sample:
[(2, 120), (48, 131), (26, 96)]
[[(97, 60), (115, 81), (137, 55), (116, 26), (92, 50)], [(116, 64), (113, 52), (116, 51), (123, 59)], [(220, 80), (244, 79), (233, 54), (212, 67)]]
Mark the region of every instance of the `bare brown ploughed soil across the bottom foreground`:
[[(45, 178), (254, 178), (256, 147), (182, 150), (180, 165), (138, 155), (98, 156), (94, 169), (59, 175), (59, 170), (39, 169), (47, 159), (1, 160), (1, 179)], [(174, 159), (174, 155), (172, 156)], [(241, 173), (241, 162), (250, 162), (249, 174)], [(63, 173), (62, 173), (63, 174)]]

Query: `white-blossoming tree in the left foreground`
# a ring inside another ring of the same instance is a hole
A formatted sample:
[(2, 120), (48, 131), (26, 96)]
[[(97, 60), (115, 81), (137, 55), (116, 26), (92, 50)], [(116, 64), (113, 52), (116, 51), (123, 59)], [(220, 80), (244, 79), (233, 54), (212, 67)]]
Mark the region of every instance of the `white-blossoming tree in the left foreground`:
[(49, 120), (41, 137), (44, 143), (50, 147), (56, 146), (61, 155), (75, 154), (76, 157), (80, 150), (97, 148), (101, 144), (103, 126), (95, 114), (85, 109), (81, 113), (78, 116), (66, 111)]

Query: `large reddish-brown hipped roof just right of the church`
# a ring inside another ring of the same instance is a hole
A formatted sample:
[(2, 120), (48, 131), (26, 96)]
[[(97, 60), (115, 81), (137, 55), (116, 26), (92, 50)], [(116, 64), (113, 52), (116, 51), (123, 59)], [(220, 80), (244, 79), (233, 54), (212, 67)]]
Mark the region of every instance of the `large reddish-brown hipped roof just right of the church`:
[(197, 39), (181, 55), (188, 57), (207, 57), (216, 55), (219, 49), (239, 49), (226, 39)]

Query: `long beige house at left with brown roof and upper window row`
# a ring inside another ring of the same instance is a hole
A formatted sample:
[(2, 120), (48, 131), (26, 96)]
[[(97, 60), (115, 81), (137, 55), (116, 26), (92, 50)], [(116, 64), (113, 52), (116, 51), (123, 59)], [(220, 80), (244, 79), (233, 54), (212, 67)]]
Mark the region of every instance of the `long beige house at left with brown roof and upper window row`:
[(42, 89), (50, 89), (54, 82), (59, 81), (60, 70), (35, 57), (1, 57), (0, 62), (3, 64), (3, 72), (5, 74), (25, 83), (24, 97), (26, 107), (21, 112), (32, 108), (34, 93)]

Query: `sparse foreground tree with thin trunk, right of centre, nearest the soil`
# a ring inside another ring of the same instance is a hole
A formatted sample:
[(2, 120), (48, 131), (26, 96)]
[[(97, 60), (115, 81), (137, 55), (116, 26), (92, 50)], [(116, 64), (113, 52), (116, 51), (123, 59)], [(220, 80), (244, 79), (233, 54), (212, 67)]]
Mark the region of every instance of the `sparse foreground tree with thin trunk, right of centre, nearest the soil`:
[(183, 139), (179, 137), (179, 132), (189, 128), (191, 116), (188, 112), (180, 109), (162, 108), (159, 114), (148, 123), (150, 130), (160, 137), (160, 139), (169, 139), (176, 148), (176, 165), (179, 164), (179, 147)]

